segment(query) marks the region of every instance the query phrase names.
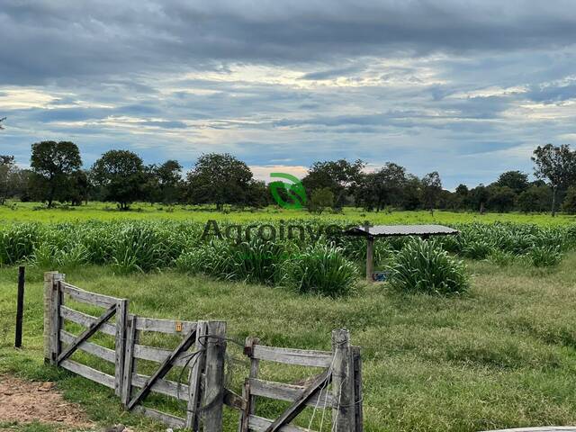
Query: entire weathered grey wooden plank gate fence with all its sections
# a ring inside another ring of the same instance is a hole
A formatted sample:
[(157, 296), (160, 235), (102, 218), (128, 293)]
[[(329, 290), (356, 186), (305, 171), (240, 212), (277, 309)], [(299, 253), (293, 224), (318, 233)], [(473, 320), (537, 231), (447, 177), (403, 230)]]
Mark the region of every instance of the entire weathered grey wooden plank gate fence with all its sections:
[[(100, 308), (101, 312), (76, 311), (68, 299), (88, 304), (93, 310)], [(85, 329), (74, 335), (66, 330), (66, 320)], [(114, 349), (88, 340), (97, 332), (112, 336)], [(176, 336), (177, 343), (172, 349), (144, 345), (145, 334)], [(138, 410), (173, 428), (221, 432), (223, 407), (227, 405), (240, 411), (240, 432), (311, 432), (292, 424), (309, 406), (332, 411), (332, 431), (362, 432), (360, 350), (350, 345), (347, 330), (332, 332), (332, 351), (266, 347), (257, 338), (248, 338), (244, 352), (250, 357), (250, 372), (241, 397), (226, 388), (227, 340), (225, 321), (160, 320), (131, 315), (125, 299), (86, 292), (67, 284), (65, 276), (57, 272), (45, 274), (46, 361), (114, 389), (128, 410)], [(71, 360), (77, 350), (112, 363), (113, 375)], [(139, 367), (139, 361), (151, 362), (152, 372), (142, 374), (145, 371)], [(262, 361), (317, 367), (323, 371), (306, 383), (275, 383), (258, 376)], [(180, 375), (176, 380), (170, 379), (168, 374), (176, 367)], [(150, 393), (185, 401), (184, 417), (144, 407), (142, 402), (147, 401)], [(276, 419), (266, 419), (257, 416), (257, 398), (288, 401), (291, 405)]]

